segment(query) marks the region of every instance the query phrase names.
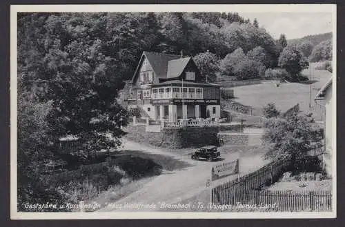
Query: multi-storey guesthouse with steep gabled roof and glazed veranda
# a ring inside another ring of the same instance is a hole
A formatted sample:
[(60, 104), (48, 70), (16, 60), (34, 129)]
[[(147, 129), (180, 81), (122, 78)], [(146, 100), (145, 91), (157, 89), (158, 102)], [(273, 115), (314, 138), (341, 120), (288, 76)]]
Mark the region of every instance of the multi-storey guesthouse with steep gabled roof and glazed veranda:
[(201, 76), (192, 57), (144, 51), (130, 83), (128, 107), (150, 119), (220, 117), (220, 86)]

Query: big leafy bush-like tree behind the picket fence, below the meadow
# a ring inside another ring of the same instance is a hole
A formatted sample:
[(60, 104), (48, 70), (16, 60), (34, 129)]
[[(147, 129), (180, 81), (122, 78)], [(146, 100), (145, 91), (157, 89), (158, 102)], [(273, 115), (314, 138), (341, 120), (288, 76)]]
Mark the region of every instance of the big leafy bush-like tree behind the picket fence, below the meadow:
[(304, 157), (309, 150), (322, 146), (322, 129), (312, 114), (302, 115), (298, 106), (288, 110), (288, 114), (267, 119), (265, 123), (267, 130), (263, 139), (269, 146), (268, 159)]

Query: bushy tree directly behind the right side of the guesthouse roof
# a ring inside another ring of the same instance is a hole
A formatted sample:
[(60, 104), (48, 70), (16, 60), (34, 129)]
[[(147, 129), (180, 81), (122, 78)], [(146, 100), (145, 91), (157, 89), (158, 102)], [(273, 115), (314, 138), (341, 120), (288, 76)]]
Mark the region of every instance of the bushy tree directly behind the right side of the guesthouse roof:
[(201, 75), (207, 78), (208, 82), (214, 82), (219, 72), (219, 59), (217, 55), (210, 51), (200, 53), (193, 57), (195, 64), (199, 68)]

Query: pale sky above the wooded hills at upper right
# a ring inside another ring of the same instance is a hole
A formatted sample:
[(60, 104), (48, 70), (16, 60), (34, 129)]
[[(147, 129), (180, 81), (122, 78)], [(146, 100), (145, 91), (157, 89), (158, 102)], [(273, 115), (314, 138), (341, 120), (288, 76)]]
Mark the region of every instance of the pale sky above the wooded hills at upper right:
[(275, 39), (285, 34), (286, 39), (295, 39), (309, 34), (332, 32), (331, 12), (239, 12), (253, 22), (255, 18)]

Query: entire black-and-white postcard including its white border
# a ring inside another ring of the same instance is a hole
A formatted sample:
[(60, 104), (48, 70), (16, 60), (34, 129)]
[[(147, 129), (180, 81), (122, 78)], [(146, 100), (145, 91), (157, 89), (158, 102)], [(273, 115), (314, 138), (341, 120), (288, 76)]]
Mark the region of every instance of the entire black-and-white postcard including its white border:
[(11, 6), (11, 218), (336, 217), (335, 9)]

